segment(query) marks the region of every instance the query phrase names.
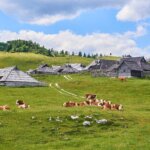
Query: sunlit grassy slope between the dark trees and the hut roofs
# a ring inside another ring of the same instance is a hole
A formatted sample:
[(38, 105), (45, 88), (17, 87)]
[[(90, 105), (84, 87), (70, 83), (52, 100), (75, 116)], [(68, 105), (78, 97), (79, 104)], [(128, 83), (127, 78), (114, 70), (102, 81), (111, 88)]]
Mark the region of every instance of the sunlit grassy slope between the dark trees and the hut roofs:
[(61, 65), (64, 63), (89, 64), (93, 59), (79, 56), (48, 57), (33, 53), (8, 53), (0, 52), (0, 68), (17, 65), (21, 70), (34, 69), (41, 64)]

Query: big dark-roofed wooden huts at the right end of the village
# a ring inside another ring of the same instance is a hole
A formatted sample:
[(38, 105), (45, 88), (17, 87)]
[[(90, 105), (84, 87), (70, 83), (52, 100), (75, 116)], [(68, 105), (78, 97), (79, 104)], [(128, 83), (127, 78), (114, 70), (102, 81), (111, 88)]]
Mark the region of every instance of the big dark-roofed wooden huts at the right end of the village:
[(118, 61), (96, 60), (90, 70), (93, 76), (141, 78), (150, 76), (150, 63), (144, 57), (125, 57)]

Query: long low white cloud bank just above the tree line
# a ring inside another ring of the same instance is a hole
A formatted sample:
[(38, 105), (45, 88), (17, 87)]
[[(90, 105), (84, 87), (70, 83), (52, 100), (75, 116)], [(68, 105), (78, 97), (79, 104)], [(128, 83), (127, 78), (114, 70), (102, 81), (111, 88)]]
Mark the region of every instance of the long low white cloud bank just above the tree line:
[[(135, 32), (123, 34), (93, 33), (89, 35), (77, 35), (71, 31), (62, 31), (58, 34), (45, 34), (43, 32), (26, 31), (20, 32), (0, 31), (0, 41), (14, 39), (32, 40), (47, 48), (68, 51), (83, 51), (86, 53), (102, 53), (113, 55), (131, 54), (150, 55), (149, 49), (141, 49), (137, 46), (134, 38), (144, 35), (145, 30), (137, 27)], [(142, 34), (143, 32), (143, 34)], [(129, 34), (130, 33), (130, 34)]]

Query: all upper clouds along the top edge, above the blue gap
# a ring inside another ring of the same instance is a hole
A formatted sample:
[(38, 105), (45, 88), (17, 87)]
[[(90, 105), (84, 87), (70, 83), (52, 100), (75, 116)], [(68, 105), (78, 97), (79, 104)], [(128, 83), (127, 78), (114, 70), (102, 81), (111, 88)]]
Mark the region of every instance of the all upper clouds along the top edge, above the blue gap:
[(48, 25), (96, 8), (120, 9), (117, 19), (139, 21), (150, 17), (150, 0), (0, 0), (0, 10), (21, 22)]

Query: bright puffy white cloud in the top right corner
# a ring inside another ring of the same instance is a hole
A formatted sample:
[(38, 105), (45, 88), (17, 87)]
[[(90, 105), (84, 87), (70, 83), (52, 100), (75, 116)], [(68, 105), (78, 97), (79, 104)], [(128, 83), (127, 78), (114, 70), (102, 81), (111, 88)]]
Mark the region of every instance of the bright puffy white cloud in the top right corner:
[(121, 21), (139, 21), (150, 17), (150, 0), (131, 0), (117, 14)]

